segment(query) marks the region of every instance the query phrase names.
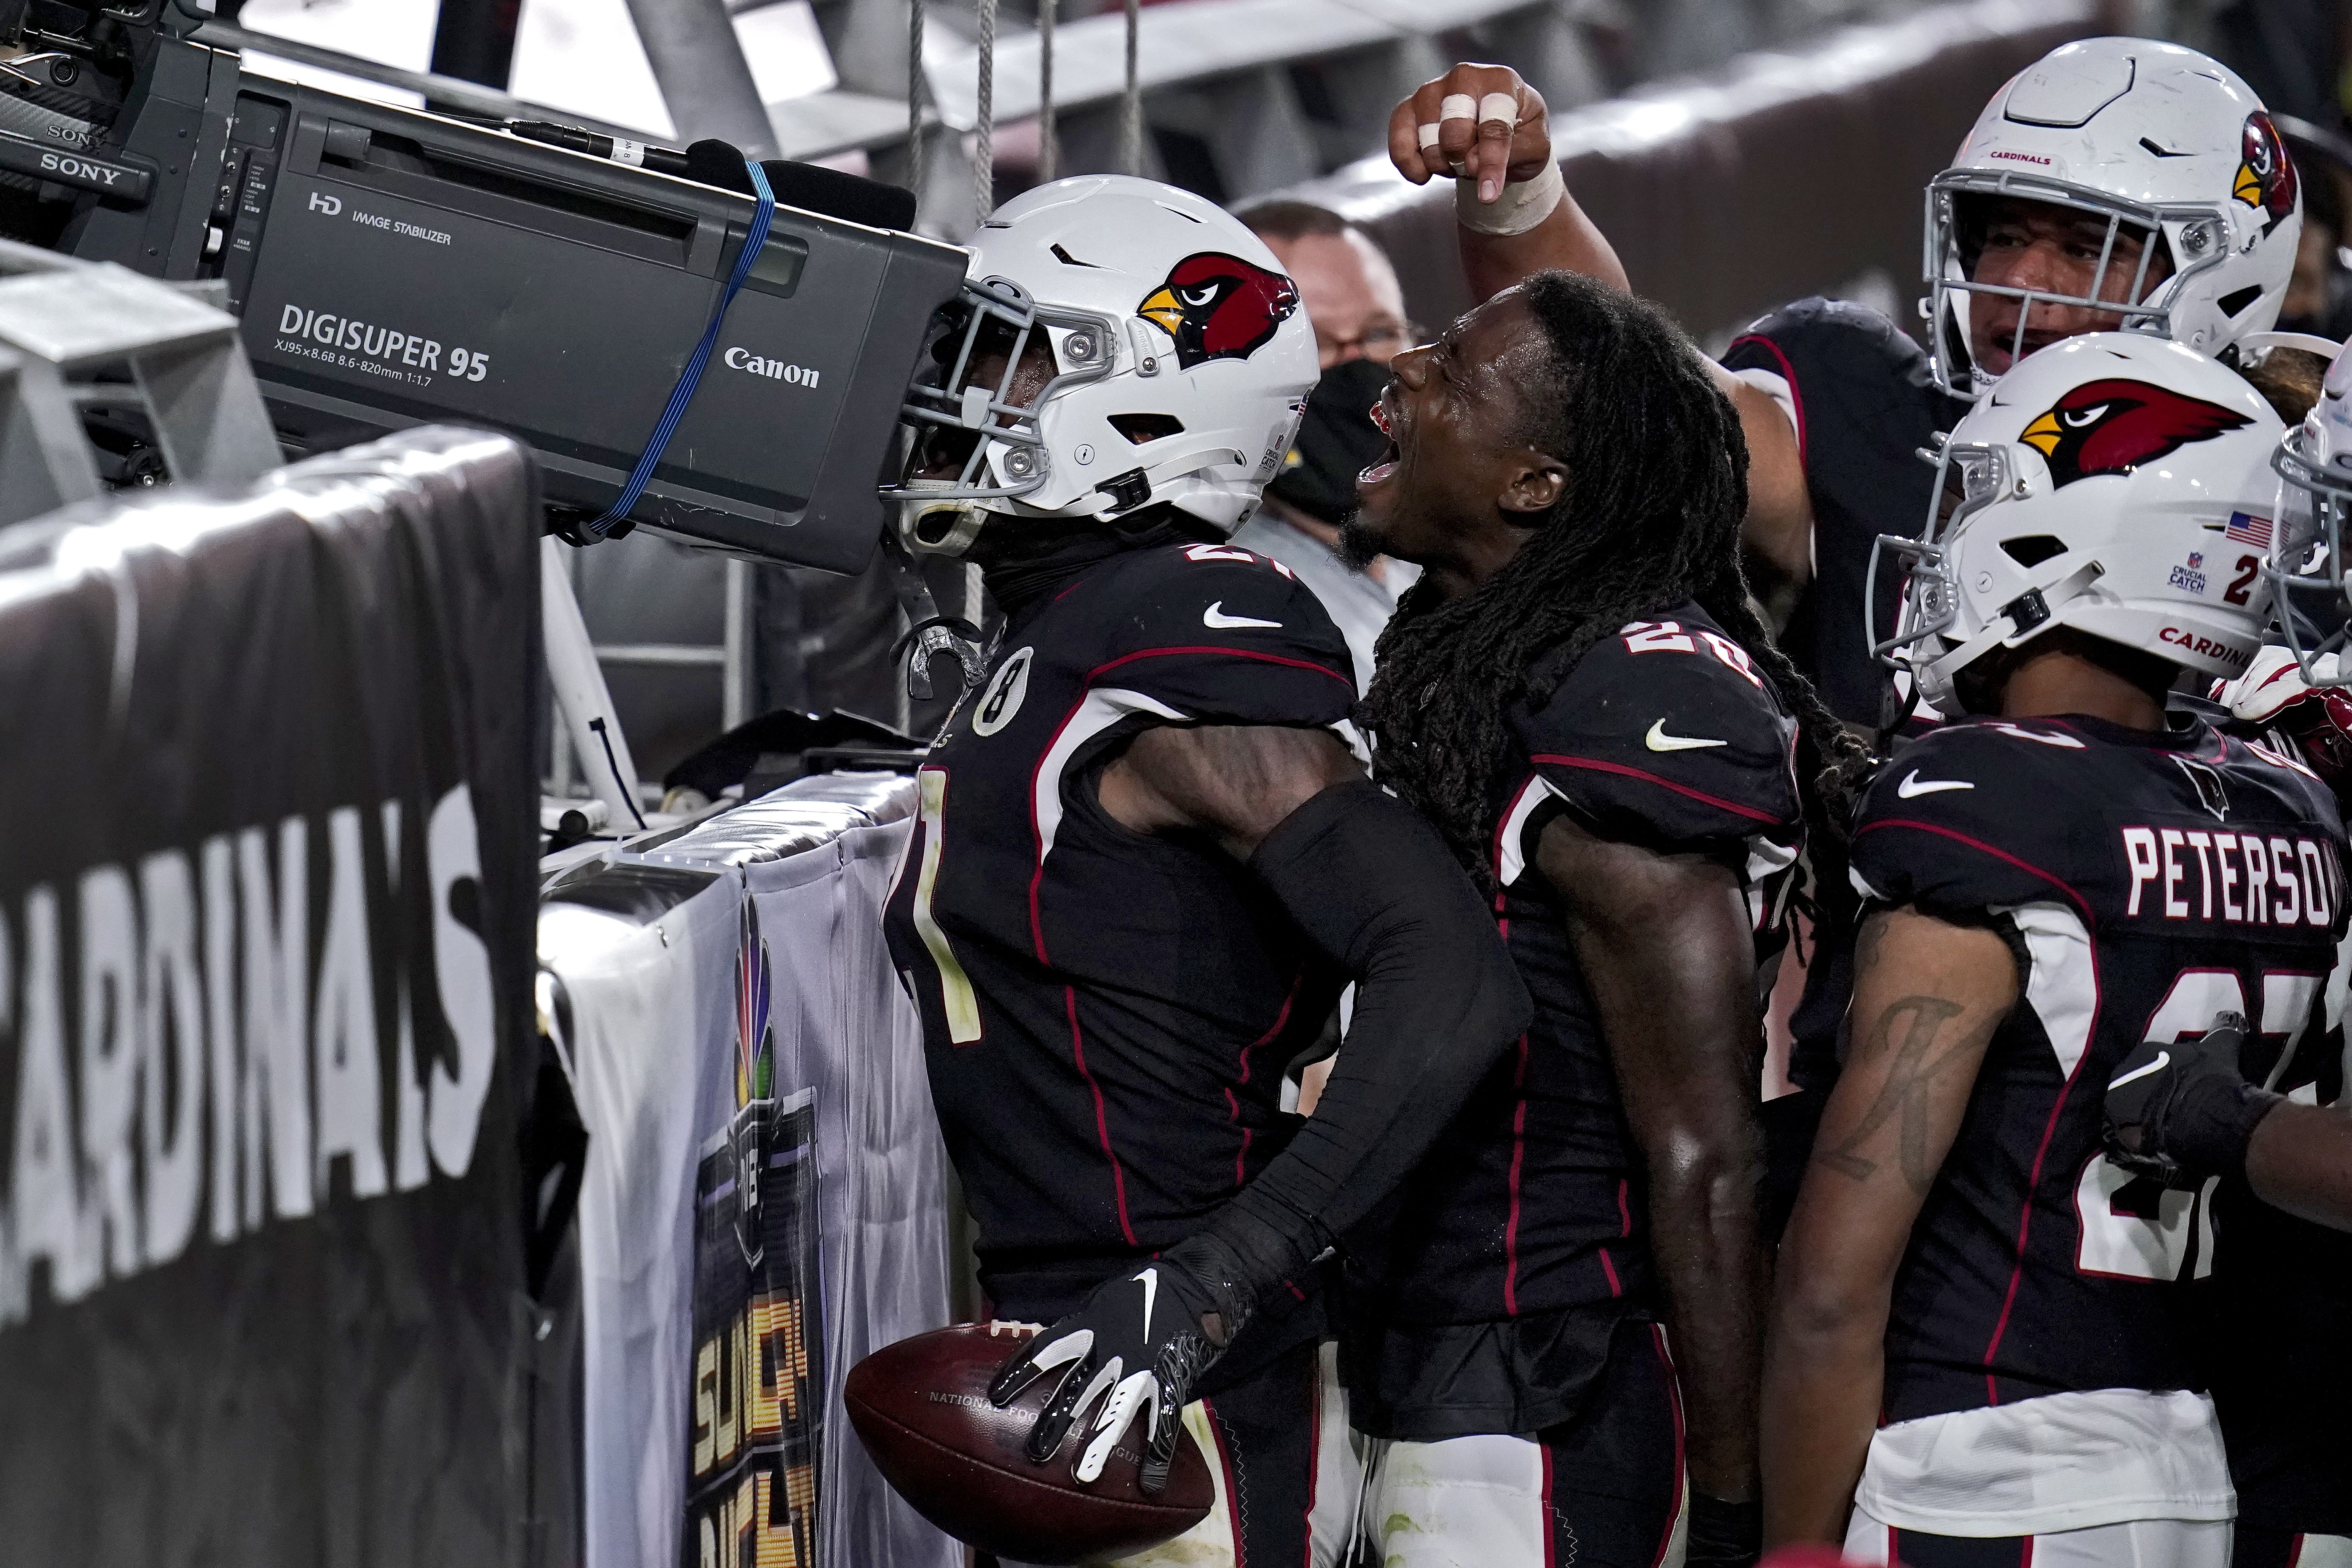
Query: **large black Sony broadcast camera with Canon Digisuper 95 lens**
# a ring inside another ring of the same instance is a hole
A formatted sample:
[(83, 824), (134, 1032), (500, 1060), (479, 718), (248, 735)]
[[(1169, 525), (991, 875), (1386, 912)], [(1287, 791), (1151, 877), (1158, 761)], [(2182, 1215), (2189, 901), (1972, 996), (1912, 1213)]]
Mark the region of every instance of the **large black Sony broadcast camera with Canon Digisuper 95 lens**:
[[(296, 454), (489, 425), (532, 444), (550, 505), (602, 512), (703, 336), (753, 202), (249, 75), (174, 5), (0, 0), (0, 40), (33, 49), (0, 66), (0, 233), (223, 280)], [(115, 82), (111, 108), (99, 89)], [(630, 522), (863, 567), (908, 378), (962, 277), (955, 247), (776, 207)]]

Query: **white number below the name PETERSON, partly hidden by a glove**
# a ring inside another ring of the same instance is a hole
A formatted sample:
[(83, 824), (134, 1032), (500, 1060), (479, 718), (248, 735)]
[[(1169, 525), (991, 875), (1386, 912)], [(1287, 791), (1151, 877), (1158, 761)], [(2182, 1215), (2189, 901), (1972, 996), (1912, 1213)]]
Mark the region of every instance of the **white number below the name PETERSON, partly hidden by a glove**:
[[(2263, 1034), (2284, 1037), (2279, 1060), (2296, 1053), (2296, 1039), (2312, 1016), (2319, 976), (2263, 976)], [(2140, 1039), (2178, 1044), (2213, 1025), (2213, 1013), (2244, 1013), (2246, 990), (2230, 969), (2183, 969), (2173, 987), (2147, 1016)], [(2218, 1178), (2216, 1178), (2218, 1180)], [(2103, 1154), (2093, 1154), (2074, 1182), (2074, 1215), (2082, 1241), (2074, 1267), (2119, 1279), (2180, 1279), (2194, 1241), (2197, 1279), (2213, 1272), (2213, 1185), (2173, 1192), (2136, 1178)]]

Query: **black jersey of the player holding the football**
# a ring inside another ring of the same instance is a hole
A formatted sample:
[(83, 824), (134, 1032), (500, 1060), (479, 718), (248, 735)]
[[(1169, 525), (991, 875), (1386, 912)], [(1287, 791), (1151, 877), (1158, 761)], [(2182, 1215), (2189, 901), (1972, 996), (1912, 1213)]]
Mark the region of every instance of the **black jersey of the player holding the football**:
[(934, 743), (884, 924), (997, 1312), (1070, 1312), (1279, 1154), (1284, 1065), (1343, 983), (1242, 863), (1112, 820), (1101, 762), (1150, 724), (1352, 743), (1352, 703), (1282, 564), (1162, 545), (1016, 618)]

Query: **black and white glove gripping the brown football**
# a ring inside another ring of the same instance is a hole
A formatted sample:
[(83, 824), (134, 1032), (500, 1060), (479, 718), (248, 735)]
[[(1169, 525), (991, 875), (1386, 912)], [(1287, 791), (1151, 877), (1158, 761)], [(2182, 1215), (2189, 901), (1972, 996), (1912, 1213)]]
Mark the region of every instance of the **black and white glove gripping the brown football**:
[[(1216, 1319), (1218, 1342), (1202, 1328), (1204, 1316)], [(1084, 1307), (1035, 1335), (988, 1385), (988, 1399), (1002, 1408), (1037, 1378), (1065, 1368), (1030, 1427), (1028, 1458), (1037, 1465), (1051, 1460), (1070, 1422), (1084, 1420), (1101, 1401), (1073, 1474), (1096, 1481), (1129, 1422), (1143, 1413), (1143, 1490), (1157, 1493), (1176, 1460), (1192, 1385), (1223, 1354), (1232, 1326), (1218, 1295), (1167, 1253), (1103, 1281)]]

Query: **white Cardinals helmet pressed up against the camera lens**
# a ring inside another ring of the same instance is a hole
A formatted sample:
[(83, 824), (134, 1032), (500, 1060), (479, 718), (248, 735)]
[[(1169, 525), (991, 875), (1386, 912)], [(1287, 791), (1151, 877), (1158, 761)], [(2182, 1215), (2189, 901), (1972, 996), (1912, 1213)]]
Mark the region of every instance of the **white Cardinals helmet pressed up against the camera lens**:
[[(1040, 334), (1051, 378), (1023, 400), (1016, 369)], [(1000, 207), (931, 360), (903, 409), (906, 480), (882, 498), (908, 548), (943, 555), (988, 517), (1117, 517), (1155, 501), (1230, 534), (1319, 374), (1265, 242), (1214, 202), (1124, 174)]]

